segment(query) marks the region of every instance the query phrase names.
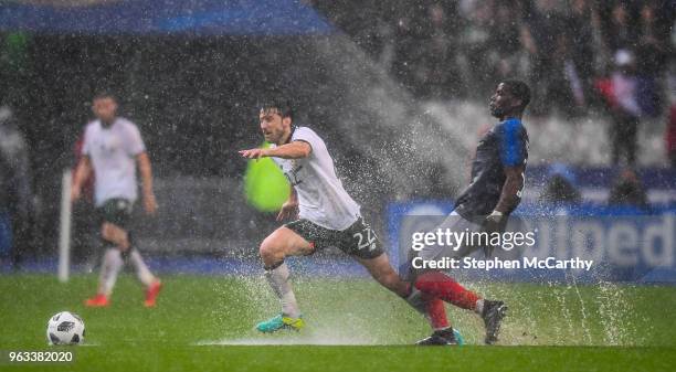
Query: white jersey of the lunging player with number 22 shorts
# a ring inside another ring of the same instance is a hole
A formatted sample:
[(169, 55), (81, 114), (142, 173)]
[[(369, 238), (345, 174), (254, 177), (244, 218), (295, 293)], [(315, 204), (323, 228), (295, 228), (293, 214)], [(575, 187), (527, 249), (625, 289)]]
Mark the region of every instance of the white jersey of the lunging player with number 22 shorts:
[(273, 158), (298, 193), (299, 217), (330, 230), (351, 226), (360, 206), (342, 188), (324, 140), (310, 128), (296, 127), (291, 141), (305, 141), (313, 148), (304, 159)]

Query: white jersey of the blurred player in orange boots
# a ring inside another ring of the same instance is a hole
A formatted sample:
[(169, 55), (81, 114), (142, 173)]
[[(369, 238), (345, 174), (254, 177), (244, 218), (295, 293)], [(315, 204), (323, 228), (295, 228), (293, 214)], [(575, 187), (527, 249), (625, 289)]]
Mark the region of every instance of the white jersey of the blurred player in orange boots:
[(136, 201), (136, 156), (144, 151), (146, 147), (138, 128), (125, 118), (116, 118), (109, 127), (102, 126), (101, 120), (87, 125), (83, 153), (94, 167), (97, 206), (115, 198)]

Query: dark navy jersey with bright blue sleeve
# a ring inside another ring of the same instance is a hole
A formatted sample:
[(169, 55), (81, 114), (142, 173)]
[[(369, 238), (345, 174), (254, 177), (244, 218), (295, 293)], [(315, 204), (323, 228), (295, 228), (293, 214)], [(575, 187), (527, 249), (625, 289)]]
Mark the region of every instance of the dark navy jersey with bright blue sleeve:
[[(505, 167), (524, 166), (528, 160), (528, 132), (518, 119), (495, 125), (479, 140), (472, 162), (472, 181), (455, 203), (455, 211), (466, 220), (484, 217), (495, 210), (507, 177)], [(517, 193), (520, 201), (521, 190)], [(518, 205), (515, 204), (513, 210)], [(506, 211), (506, 214), (510, 213)]]

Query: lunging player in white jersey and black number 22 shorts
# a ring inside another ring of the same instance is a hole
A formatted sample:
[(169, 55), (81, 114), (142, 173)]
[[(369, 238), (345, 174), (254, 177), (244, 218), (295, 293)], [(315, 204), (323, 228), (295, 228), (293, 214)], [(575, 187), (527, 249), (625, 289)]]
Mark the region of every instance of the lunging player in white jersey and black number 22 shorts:
[(404, 298), (419, 312), (445, 319), (443, 304), (430, 306), (390, 266), (376, 233), (363, 221), (359, 204), (336, 176), (324, 140), (310, 128), (293, 125), (288, 102), (277, 98), (263, 104), (260, 124), (265, 140), (273, 145), (266, 149), (243, 150), (240, 155), (249, 159), (271, 157), (282, 168), (292, 185), (292, 195), (277, 220), (297, 220), (278, 227), (261, 244), (265, 277), (282, 304), (282, 312), (260, 322), (256, 329), (274, 332), (299, 330), (305, 326), (284, 258), (309, 255), (328, 246), (336, 246), (355, 257), (378, 283)]

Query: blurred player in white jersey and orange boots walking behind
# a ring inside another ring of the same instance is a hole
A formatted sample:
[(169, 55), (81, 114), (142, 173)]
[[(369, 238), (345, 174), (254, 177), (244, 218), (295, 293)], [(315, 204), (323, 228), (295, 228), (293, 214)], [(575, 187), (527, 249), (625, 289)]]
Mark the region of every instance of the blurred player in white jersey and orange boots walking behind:
[(80, 199), (82, 184), (93, 170), (96, 178), (94, 199), (101, 219), (101, 237), (105, 253), (98, 293), (87, 299), (85, 305), (109, 305), (117, 275), (127, 259), (146, 287), (145, 306), (154, 307), (161, 283), (150, 273), (134, 246), (128, 226), (138, 194), (137, 164), (142, 181), (145, 211), (154, 214), (157, 210), (150, 159), (136, 125), (117, 116), (117, 100), (113, 95), (98, 94), (94, 97), (92, 109), (96, 120), (89, 123), (85, 129), (83, 158), (77, 164), (71, 199)]

